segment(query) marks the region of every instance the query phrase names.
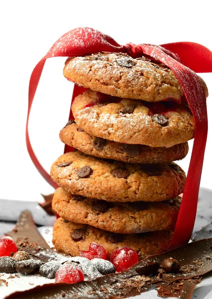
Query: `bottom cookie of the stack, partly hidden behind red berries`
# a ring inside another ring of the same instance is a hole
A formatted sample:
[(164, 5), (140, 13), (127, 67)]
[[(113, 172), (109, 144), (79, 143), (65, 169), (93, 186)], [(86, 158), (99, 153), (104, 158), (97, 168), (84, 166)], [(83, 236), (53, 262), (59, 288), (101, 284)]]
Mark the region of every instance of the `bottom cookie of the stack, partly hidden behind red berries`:
[(58, 218), (53, 229), (52, 243), (57, 251), (72, 256), (79, 256), (82, 250), (88, 251), (89, 245), (95, 242), (105, 248), (107, 258), (116, 248), (124, 246), (134, 249), (139, 257), (145, 257), (166, 251), (171, 237), (172, 231), (115, 234)]

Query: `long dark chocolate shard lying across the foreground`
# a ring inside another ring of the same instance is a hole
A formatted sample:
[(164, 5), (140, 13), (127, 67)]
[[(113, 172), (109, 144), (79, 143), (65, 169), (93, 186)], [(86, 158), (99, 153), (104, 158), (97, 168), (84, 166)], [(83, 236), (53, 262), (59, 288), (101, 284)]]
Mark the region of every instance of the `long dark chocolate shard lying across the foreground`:
[[(156, 288), (167, 286), (168, 288), (168, 285), (179, 281), (183, 284), (184, 294), (188, 290), (188, 296), (184, 295), (183, 298), (191, 299), (193, 286), (198, 282), (195, 278), (212, 271), (212, 251), (210, 248), (212, 248), (212, 239), (200, 240), (162, 254), (150, 256), (122, 273), (110, 274), (94, 281), (83, 281), (72, 285), (47, 284), (24, 292), (15, 292), (6, 299), (29, 299), (32, 297), (33, 299), (82, 299), (87, 298), (88, 295), (94, 299), (109, 298), (109, 296), (126, 298), (139, 295), (154, 286)], [(145, 281), (135, 271), (137, 266), (142, 266), (146, 262), (161, 264), (164, 259), (170, 257), (181, 261), (181, 271), (177, 274), (163, 274), (161, 278), (152, 276)], [(201, 261), (201, 263), (195, 264), (194, 267), (193, 261), (196, 260)], [(187, 280), (189, 281), (187, 282)], [(189, 287), (187, 287), (187, 284)]]

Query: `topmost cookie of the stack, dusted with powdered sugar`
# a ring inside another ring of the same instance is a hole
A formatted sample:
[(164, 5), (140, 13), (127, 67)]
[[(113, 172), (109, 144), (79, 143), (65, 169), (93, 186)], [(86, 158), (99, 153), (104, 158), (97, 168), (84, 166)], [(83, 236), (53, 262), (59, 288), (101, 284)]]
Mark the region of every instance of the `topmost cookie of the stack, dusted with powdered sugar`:
[(181, 101), (183, 90), (175, 74), (162, 63), (124, 53), (96, 53), (66, 60), (64, 76), (94, 91), (129, 99)]

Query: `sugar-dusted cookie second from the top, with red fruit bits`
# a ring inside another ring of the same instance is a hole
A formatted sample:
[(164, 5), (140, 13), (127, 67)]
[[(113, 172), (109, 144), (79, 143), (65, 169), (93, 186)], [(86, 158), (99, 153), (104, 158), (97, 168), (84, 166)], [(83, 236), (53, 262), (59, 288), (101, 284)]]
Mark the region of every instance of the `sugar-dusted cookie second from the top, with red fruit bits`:
[(148, 103), (87, 90), (75, 98), (72, 112), (81, 129), (118, 143), (169, 148), (194, 138), (194, 118), (185, 103)]

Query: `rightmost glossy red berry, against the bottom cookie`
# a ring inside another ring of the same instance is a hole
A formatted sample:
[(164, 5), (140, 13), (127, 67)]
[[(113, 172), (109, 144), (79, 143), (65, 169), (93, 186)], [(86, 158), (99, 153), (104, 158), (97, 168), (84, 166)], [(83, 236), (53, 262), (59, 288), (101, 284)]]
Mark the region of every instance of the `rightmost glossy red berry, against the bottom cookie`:
[(138, 254), (130, 247), (119, 247), (111, 254), (110, 262), (116, 272), (123, 272), (138, 262)]

